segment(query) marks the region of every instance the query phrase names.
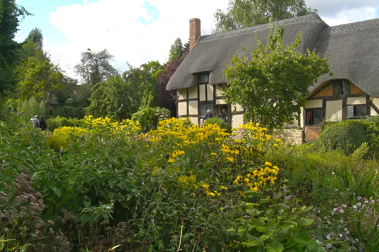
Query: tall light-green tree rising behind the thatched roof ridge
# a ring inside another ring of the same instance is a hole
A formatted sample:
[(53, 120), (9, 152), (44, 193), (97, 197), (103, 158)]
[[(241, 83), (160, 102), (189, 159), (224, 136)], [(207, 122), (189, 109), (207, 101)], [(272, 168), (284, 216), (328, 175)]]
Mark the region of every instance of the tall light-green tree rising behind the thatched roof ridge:
[(217, 9), (214, 32), (226, 32), (270, 21), (317, 13), (304, 0), (229, 0), (227, 12)]

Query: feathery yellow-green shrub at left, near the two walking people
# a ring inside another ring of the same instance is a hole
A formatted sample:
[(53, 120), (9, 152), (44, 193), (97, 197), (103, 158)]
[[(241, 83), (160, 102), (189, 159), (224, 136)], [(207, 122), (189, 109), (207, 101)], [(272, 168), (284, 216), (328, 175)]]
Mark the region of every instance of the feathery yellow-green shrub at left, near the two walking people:
[(82, 136), (88, 131), (81, 128), (61, 127), (54, 130), (54, 134), (47, 138), (47, 146), (59, 151), (61, 148), (67, 148), (70, 136)]

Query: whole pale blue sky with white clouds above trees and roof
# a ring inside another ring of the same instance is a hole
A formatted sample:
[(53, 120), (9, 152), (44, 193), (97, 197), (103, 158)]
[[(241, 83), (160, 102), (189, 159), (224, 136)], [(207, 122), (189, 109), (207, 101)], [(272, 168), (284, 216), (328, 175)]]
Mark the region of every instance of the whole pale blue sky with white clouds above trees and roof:
[[(24, 41), (38, 27), (44, 50), (70, 77), (80, 53), (107, 49), (112, 65), (124, 72), (127, 62), (138, 67), (147, 61), (167, 61), (171, 44), (189, 38), (189, 19), (201, 20), (202, 35), (215, 27), (216, 9), (229, 0), (17, 0), (33, 16), (19, 24), (15, 39)], [(184, 4), (185, 3), (185, 4)], [(191, 4), (189, 4), (191, 3)], [(379, 18), (378, 0), (305, 0), (329, 26)]]

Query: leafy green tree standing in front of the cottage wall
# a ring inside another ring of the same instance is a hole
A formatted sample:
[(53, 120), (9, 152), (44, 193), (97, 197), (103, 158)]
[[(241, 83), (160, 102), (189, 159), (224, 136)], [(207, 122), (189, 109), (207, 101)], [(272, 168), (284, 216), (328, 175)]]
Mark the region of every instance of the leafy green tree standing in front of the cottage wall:
[(309, 49), (296, 51), (301, 32), (290, 47), (283, 45), (283, 32), (282, 25), (273, 28), (270, 24), (266, 44), (257, 39), (250, 59), (236, 55), (224, 70), (229, 80), (223, 91), (227, 103), (240, 104), (245, 120), (269, 129), (291, 123), (305, 103), (308, 87), (329, 72), (327, 59)]

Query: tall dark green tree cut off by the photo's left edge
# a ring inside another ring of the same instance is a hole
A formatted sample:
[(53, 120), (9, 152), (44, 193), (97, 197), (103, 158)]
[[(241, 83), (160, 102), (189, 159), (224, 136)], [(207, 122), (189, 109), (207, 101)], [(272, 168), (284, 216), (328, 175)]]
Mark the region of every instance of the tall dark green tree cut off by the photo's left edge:
[(19, 65), (21, 44), (14, 41), (18, 17), (29, 13), (16, 4), (16, 0), (0, 1), (0, 97), (17, 84), (16, 68)]

